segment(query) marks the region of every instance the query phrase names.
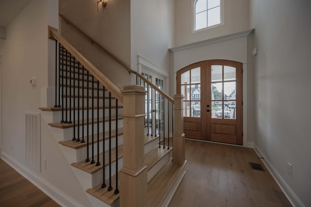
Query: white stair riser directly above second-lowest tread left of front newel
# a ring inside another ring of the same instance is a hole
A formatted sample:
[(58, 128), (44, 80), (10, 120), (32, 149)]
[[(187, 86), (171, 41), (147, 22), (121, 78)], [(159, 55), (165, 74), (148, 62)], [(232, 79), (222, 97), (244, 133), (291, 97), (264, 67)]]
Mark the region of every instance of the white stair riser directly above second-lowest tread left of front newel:
[[(96, 138), (94, 138), (95, 140)], [(90, 139), (91, 142), (91, 139)], [(118, 136), (118, 145), (123, 144), (123, 135)], [(114, 148), (116, 146), (116, 138), (111, 138), (111, 147)], [(72, 149), (63, 145), (60, 145), (62, 152), (66, 155), (67, 161), (69, 164), (74, 162), (80, 162), (86, 160), (86, 157), (92, 156), (92, 146), (88, 146), (89, 155), (87, 156), (86, 147), (79, 149)], [(103, 141), (99, 143), (99, 153), (103, 152)], [(105, 140), (105, 151), (109, 148), (109, 139)], [(94, 160), (97, 162), (97, 143), (94, 144)]]

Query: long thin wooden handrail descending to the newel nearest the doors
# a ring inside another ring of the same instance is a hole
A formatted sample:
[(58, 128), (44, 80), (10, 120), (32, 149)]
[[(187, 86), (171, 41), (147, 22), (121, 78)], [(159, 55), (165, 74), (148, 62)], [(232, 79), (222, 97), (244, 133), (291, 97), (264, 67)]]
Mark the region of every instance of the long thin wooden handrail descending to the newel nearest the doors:
[(80, 33), (82, 33), (87, 39), (89, 39), (92, 43), (95, 43), (99, 48), (101, 48), (106, 54), (108, 54), (112, 59), (114, 59), (117, 63), (119, 63), (123, 68), (125, 68), (127, 71), (137, 75), (141, 80), (146, 82), (149, 86), (154, 88), (158, 93), (160, 93), (162, 96), (164, 96), (167, 100), (169, 100), (171, 103), (174, 104), (174, 99), (160, 90), (158, 87), (156, 87), (153, 83), (148, 81), (146, 78), (144, 78), (141, 74), (136, 72), (135, 70), (132, 70), (129, 66), (127, 66), (124, 62), (122, 62), (119, 58), (114, 56), (112, 53), (108, 52), (106, 49), (104, 49), (103, 46), (101, 46), (98, 42), (96, 42), (94, 39), (92, 39), (90, 36), (86, 35), (82, 30), (80, 30), (76, 25), (74, 25), (72, 22), (70, 22), (66, 17), (63, 15), (59, 14), (60, 17), (62, 17), (67, 23), (71, 24), (76, 30), (78, 30)]

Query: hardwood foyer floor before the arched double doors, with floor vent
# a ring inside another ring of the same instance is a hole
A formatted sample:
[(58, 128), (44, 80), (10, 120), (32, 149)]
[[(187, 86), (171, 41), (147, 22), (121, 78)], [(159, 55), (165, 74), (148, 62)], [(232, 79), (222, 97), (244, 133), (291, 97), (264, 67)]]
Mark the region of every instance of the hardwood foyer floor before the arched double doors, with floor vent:
[(254, 149), (186, 139), (186, 159), (187, 172), (169, 207), (292, 206)]

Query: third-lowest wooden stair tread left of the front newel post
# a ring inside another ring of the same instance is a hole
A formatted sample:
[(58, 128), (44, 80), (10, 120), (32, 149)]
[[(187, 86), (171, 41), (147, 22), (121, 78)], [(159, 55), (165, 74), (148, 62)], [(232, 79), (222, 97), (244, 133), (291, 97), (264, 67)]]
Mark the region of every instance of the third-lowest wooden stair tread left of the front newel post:
[[(104, 134), (104, 138), (105, 140), (109, 138), (109, 131), (106, 131), (105, 133), (101, 132), (99, 133), (99, 141), (103, 141), (103, 134)], [(123, 128), (119, 128), (118, 129), (118, 136), (123, 135)], [(94, 137), (96, 138), (96, 140), (94, 140), (94, 143), (97, 143), (97, 134), (94, 134)], [(113, 129), (111, 130), (111, 137), (114, 138), (116, 137), (116, 130)], [(87, 136), (84, 137), (84, 140), (86, 140)], [(89, 135), (88, 136), (89, 140), (91, 140), (92, 136)], [(82, 139), (82, 138), (80, 138)], [(87, 145), (86, 142), (81, 143), (80, 141), (73, 141), (73, 140), (67, 140), (67, 141), (59, 141), (59, 144), (72, 148), (72, 149), (80, 149), (82, 147), (85, 147)], [(89, 143), (90, 145), (91, 143)]]

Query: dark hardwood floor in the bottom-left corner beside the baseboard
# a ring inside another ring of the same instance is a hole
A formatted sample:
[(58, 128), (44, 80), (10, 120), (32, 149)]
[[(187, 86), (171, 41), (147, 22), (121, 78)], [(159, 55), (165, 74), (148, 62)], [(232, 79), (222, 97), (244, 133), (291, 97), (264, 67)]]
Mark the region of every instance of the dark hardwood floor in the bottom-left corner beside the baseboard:
[(0, 159), (0, 206), (60, 207), (2, 159)]

